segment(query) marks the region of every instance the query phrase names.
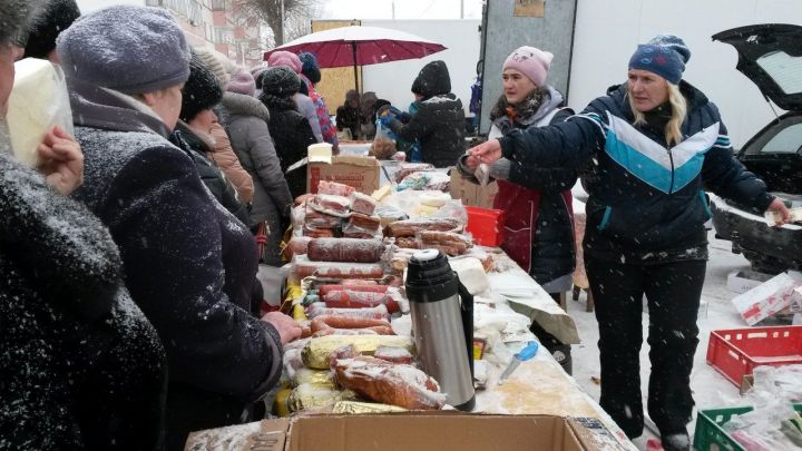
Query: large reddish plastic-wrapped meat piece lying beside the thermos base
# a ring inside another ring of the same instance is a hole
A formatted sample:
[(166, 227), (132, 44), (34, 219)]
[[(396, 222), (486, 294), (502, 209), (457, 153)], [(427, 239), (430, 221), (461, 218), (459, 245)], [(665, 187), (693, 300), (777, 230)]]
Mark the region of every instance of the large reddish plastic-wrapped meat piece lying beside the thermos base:
[(437, 381), (410, 365), (359, 356), (336, 362), (336, 382), (371, 401), (410, 410), (438, 410), (446, 394)]

